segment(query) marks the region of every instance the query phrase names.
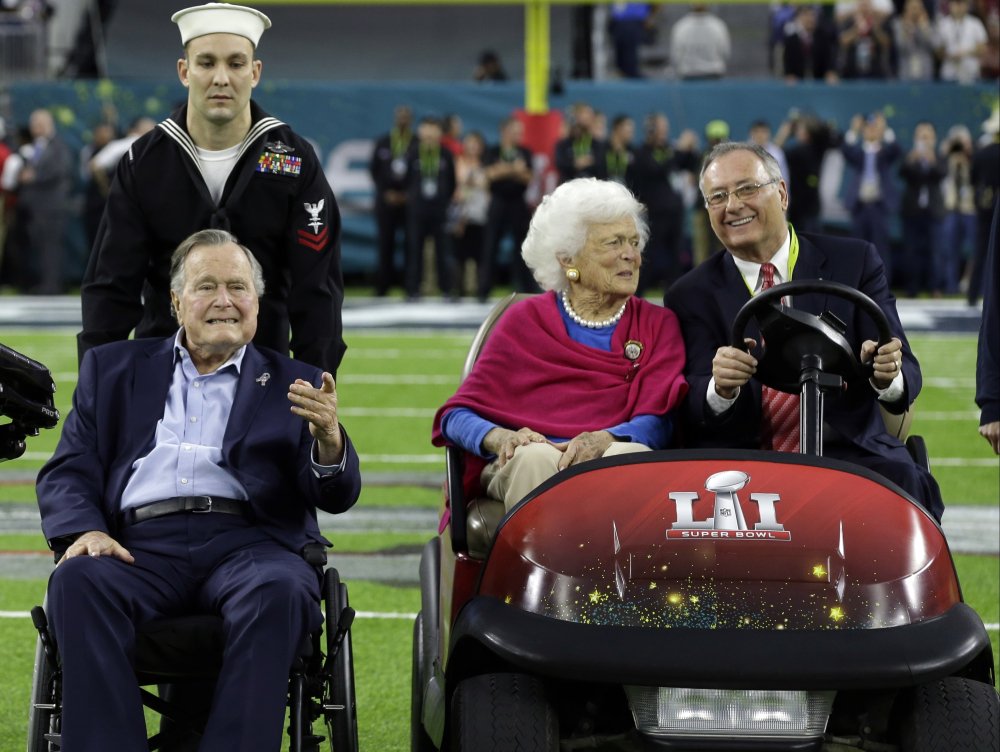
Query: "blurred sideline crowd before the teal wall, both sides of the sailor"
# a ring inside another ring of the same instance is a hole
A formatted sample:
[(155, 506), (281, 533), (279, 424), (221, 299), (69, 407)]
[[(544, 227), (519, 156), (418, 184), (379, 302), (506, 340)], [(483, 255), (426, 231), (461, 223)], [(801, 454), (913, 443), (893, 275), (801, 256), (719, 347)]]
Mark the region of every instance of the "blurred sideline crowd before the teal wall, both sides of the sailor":
[[(757, 120), (747, 133), (713, 120), (700, 132), (675, 134), (666, 112), (637, 123), (577, 102), (563, 123), (550, 187), (574, 177), (615, 180), (648, 207), (643, 290), (656, 294), (719, 249), (698, 191), (701, 157), (720, 141), (752, 140), (782, 166), (789, 220), (799, 231), (872, 241), (901, 295), (964, 294), (970, 304), (979, 298), (1000, 185), (996, 110), (976, 133), (962, 124), (938, 133), (925, 122), (908, 142), (897, 139), (891, 119), (879, 112), (838, 124), (793, 111), (778, 123)], [(399, 287), (410, 299), (485, 300), (497, 286), (534, 289), (514, 252), (531, 215), (529, 187), (541, 177), (523, 145), (522, 122), (511, 117), (494, 133), (466, 132), (460, 114), (417, 118), (400, 105), (386, 125), (384, 133), (372, 134), (369, 163), (377, 263), (370, 279), (348, 281), (371, 284), (376, 295)], [(0, 285), (59, 294), (79, 284), (85, 259), (66, 257), (66, 225), (79, 217), (90, 248), (118, 160), (153, 127), (145, 117), (121, 130), (101, 123), (73, 154), (47, 110), (9, 132), (0, 120)], [(848, 226), (823, 222), (828, 185), (839, 186)]]

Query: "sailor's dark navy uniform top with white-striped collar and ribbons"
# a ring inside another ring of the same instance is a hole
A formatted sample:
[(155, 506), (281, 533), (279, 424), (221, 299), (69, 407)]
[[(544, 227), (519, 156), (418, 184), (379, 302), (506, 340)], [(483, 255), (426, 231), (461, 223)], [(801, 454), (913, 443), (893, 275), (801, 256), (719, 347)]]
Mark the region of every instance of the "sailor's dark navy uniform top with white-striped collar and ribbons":
[(81, 290), (81, 359), (133, 329), (136, 337), (175, 332), (170, 256), (192, 233), (215, 227), (232, 232), (263, 267), (254, 342), (336, 374), (346, 349), (337, 201), (309, 142), (253, 102), (250, 111), (218, 204), (185, 130), (186, 105), (118, 163)]

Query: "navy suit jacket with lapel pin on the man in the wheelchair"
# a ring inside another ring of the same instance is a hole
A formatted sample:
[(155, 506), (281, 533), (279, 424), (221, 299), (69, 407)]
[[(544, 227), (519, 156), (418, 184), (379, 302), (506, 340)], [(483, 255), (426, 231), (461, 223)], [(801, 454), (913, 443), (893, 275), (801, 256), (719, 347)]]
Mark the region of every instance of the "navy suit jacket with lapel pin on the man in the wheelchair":
[[(126, 340), (84, 354), (73, 409), (55, 454), (38, 474), (42, 529), (50, 544), (88, 530), (116, 535), (132, 463), (150, 451), (163, 417), (173, 341)], [(316, 507), (342, 512), (361, 488), (350, 441), (342, 473), (319, 479), (312, 472), (308, 424), (289, 410), (288, 386), (296, 378), (318, 384), (320, 371), (247, 345), (222, 445), (224, 467), (246, 488), (255, 524), (293, 551), (326, 542)]]

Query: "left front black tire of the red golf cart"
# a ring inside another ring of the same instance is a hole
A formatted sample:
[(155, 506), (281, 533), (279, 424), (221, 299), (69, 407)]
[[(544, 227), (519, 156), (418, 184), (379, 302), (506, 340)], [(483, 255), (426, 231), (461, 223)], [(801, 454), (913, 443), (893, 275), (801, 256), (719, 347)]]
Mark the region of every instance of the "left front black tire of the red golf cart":
[(526, 674), (482, 674), (451, 699), (451, 752), (558, 752), (559, 721), (542, 682)]

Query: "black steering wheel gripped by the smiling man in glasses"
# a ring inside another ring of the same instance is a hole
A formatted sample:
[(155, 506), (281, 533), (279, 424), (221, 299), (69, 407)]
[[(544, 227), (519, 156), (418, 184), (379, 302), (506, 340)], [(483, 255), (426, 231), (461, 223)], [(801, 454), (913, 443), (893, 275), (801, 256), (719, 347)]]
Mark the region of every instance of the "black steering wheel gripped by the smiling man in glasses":
[(757, 378), (762, 384), (789, 394), (801, 390), (799, 375), (806, 355), (819, 356), (822, 370), (840, 376), (848, 388), (864, 384), (872, 374), (871, 363), (859, 360), (844, 337), (847, 325), (829, 311), (818, 316), (781, 304), (785, 296), (820, 293), (841, 298), (860, 308), (878, 330), (878, 344), (892, 339), (889, 320), (881, 308), (859, 290), (825, 279), (792, 280), (757, 293), (740, 309), (733, 320), (730, 341), (733, 347), (743, 343), (747, 324), (755, 319), (760, 327), (763, 354), (757, 359)]

